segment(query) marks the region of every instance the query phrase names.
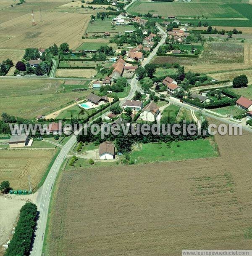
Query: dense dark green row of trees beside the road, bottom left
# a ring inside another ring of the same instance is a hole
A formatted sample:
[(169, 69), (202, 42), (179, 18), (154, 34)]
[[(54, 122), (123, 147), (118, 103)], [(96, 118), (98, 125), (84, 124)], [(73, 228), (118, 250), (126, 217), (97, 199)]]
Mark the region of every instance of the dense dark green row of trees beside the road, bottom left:
[(36, 227), (37, 206), (26, 203), (20, 210), (15, 233), (11, 239), (5, 256), (29, 255), (32, 236)]

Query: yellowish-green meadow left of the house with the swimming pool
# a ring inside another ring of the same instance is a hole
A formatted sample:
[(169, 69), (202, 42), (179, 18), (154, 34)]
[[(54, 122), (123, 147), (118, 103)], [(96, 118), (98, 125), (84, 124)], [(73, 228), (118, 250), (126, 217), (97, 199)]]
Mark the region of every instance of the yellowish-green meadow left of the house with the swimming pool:
[(58, 93), (61, 84), (63, 80), (1, 78), (0, 113), (34, 118), (90, 93), (90, 91)]

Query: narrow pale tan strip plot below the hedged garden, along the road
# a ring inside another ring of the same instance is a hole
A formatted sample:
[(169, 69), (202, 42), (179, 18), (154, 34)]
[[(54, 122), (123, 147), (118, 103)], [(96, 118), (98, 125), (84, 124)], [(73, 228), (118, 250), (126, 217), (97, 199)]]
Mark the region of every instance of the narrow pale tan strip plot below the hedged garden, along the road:
[(90, 78), (96, 75), (97, 71), (95, 69), (57, 69), (56, 77), (84, 77)]

